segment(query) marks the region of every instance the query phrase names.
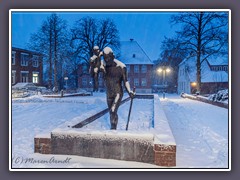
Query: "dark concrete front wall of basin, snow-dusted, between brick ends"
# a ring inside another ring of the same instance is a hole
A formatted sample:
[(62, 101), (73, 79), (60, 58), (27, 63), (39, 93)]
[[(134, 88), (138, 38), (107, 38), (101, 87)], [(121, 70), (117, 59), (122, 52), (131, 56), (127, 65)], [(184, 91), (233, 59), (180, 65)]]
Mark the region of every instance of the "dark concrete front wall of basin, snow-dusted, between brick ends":
[(52, 154), (154, 163), (153, 135), (127, 133), (51, 134)]

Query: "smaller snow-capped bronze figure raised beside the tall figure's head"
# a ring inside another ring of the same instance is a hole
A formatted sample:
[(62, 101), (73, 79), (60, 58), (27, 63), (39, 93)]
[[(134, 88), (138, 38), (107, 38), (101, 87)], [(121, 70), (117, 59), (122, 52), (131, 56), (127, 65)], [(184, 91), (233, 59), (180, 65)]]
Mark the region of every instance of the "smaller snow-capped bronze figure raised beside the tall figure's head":
[(99, 50), (98, 46), (93, 47), (93, 56), (90, 58), (90, 69), (89, 73), (93, 78), (93, 92), (98, 91), (98, 76), (101, 66), (101, 56), (102, 52)]

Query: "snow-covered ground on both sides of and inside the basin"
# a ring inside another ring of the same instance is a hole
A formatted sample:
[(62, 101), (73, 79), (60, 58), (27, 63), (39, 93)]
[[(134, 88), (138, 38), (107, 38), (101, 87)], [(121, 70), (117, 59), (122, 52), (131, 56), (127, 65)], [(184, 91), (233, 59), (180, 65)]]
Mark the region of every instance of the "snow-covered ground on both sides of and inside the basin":
[[(127, 95), (125, 95), (127, 97)], [(161, 96), (160, 96), (161, 97)], [(228, 110), (199, 101), (167, 95), (160, 99), (177, 144), (176, 168), (228, 168)], [(161, 168), (147, 163), (106, 160), (69, 155), (33, 153), (33, 139), (84, 114), (106, 108), (105, 93), (93, 96), (12, 100), (13, 168)], [(133, 102), (129, 128), (140, 133), (151, 126), (151, 100)], [(125, 128), (129, 102), (119, 108), (118, 130)], [(94, 122), (108, 128), (109, 117)], [(135, 123), (141, 120), (141, 123)], [(90, 124), (86, 128), (93, 128)], [(95, 127), (95, 126), (94, 126)]]

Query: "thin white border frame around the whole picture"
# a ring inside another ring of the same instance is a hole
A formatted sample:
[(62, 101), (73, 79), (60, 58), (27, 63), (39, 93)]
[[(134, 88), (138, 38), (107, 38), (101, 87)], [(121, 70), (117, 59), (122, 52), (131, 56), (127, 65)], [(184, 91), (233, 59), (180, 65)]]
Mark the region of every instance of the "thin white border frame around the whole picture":
[[(11, 25), (11, 17), (12, 12), (198, 12), (198, 11), (205, 11), (205, 12), (223, 12), (226, 11), (229, 13), (229, 30), (228, 30), (228, 40), (229, 40), (229, 132), (228, 132), (228, 169), (12, 169), (12, 83), (11, 83), (11, 66), (12, 66), (12, 41), (11, 41), (11, 34), (12, 34), (12, 25)], [(10, 171), (231, 171), (231, 10), (230, 9), (10, 9), (9, 10), (9, 170)], [(11, 138), (10, 138), (11, 137)]]

